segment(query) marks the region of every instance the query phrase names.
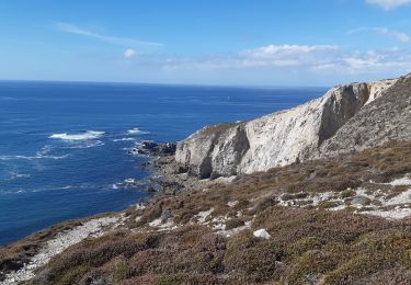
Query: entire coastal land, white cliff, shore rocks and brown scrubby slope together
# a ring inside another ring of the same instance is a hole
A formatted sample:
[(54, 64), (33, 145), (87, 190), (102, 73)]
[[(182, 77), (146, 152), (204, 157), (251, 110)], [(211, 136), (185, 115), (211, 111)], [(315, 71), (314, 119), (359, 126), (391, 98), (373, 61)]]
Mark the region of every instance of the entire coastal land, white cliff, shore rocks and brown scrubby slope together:
[(353, 83), (144, 141), (152, 198), (0, 248), (0, 284), (408, 284), (410, 100), (410, 76)]

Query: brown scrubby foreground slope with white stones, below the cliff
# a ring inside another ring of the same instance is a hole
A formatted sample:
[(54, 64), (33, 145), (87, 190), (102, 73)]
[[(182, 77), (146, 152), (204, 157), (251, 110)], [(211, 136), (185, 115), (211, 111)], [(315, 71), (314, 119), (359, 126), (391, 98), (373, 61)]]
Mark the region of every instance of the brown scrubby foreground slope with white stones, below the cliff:
[(411, 142), (220, 180), (151, 167), (156, 198), (0, 249), (2, 269), (39, 244), (24, 284), (411, 282)]

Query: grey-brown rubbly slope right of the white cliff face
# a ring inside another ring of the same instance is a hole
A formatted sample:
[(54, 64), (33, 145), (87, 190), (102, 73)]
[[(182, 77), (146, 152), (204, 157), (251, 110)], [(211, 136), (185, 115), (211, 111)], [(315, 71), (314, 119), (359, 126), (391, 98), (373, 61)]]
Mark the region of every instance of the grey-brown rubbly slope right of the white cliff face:
[(399, 79), (383, 96), (367, 104), (319, 148), (319, 157), (333, 157), (411, 140), (411, 75)]

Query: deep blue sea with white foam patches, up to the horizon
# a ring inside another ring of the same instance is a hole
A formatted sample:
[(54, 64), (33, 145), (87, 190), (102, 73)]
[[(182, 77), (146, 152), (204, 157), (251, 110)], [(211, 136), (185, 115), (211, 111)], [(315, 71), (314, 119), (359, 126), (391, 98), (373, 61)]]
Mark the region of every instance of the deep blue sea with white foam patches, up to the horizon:
[(204, 125), (288, 109), (324, 91), (0, 82), (0, 244), (146, 197), (118, 184), (149, 175), (140, 167), (147, 158), (127, 153), (138, 141), (183, 139)]

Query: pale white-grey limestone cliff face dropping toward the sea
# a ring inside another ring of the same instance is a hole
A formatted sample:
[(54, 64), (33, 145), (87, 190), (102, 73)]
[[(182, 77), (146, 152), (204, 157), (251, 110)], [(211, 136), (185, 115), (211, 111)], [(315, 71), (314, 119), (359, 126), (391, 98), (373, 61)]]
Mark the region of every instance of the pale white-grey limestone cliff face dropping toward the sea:
[(397, 80), (340, 86), (292, 110), (205, 127), (178, 144), (175, 160), (201, 178), (266, 171), (320, 156), (320, 147)]

